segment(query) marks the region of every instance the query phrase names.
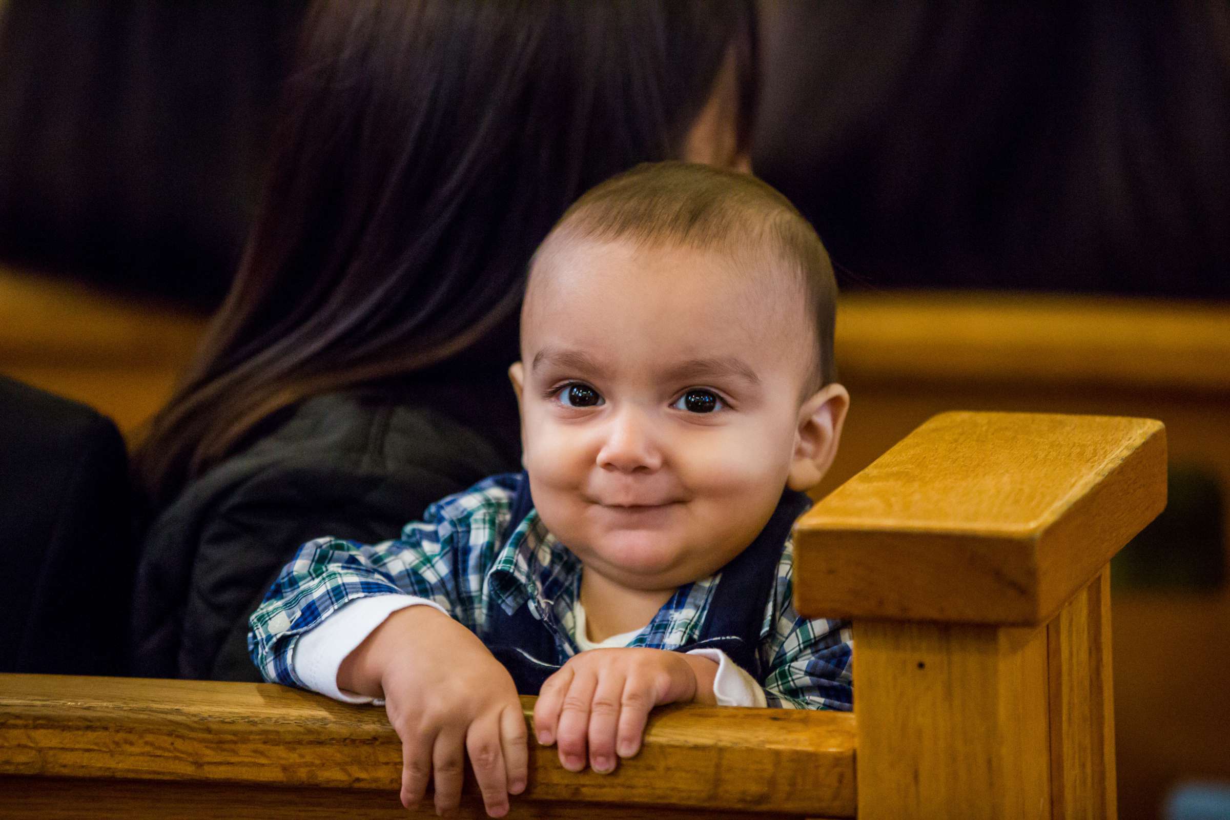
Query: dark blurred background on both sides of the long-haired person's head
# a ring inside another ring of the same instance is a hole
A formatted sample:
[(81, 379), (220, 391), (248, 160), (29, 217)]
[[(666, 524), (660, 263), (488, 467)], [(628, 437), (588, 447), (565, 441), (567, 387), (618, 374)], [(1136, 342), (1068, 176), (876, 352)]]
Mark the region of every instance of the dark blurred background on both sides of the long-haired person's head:
[[(6, 0), (0, 259), (209, 309), (301, 2)], [(846, 288), (1225, 298), (1230, 7), (763, 4), (754, 166)]]

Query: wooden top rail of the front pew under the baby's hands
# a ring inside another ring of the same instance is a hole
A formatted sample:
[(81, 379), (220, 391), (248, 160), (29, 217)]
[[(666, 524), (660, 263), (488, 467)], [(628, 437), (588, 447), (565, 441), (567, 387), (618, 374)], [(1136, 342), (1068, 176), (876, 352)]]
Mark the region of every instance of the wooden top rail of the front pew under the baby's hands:
[[(614, 775), (531, 746), (522, 802), (851, 816), (854, 744), (851, 714), (669, 707)], [(0, 775), (396, 795), (400, 750), (383, 709), (269, 684), (0, 675)]]

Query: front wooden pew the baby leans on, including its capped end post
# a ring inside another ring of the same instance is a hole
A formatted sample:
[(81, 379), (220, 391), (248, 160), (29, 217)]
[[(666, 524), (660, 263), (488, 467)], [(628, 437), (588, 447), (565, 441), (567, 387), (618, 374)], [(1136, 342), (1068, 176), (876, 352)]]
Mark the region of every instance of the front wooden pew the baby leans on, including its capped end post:
[[(1106, 564), (1165, 462), (1145, 419), (930, 420), (797, 526), (855, 714), (658, 709), (614, 775), (533, 749), (510, 816), (1114, 816)], [(399, 761), (379, 709), (278, 686), (0, 676), (5, 818), (405, 816)]]

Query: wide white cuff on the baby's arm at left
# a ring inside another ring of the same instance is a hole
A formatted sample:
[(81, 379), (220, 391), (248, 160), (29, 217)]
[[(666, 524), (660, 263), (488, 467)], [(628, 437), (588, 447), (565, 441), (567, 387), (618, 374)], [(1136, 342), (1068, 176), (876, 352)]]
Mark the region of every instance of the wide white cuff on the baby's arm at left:
[[(371, 595), (343, 605), (315, 627), (299, 636), (292, 664), (295, 677), (314, 692), (327, 695), (343, 703), (384, 703), (380, 698), (355, 695), (337, 687), (337, 670), (346, 656), (375, 632), (390, 615), (407, 606), (433, 606), (435, 601), (415, 595)], [(444, 612), (448, 615), (448, 612)]]

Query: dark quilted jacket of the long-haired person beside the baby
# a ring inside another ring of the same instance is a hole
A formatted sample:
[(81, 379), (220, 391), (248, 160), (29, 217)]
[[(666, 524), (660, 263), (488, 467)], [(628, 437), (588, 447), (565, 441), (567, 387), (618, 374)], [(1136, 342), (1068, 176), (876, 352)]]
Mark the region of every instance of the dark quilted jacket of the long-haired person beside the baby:
[(260, 680), (247, 618), (300, 545), (396, 537), (432, 502), (519, 459), (513, 391), (494, 374), (305, 401), (154, 520), (137, 578), (134, 672)]

